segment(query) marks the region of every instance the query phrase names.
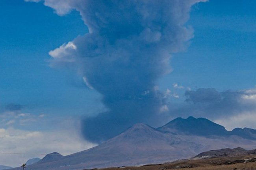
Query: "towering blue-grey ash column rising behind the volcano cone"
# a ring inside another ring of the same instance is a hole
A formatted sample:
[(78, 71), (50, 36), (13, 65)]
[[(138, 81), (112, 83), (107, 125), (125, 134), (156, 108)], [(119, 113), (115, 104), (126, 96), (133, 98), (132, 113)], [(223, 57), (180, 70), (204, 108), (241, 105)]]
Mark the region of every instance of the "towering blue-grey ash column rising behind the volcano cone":
[(89, 28), (49, 53), (51, 66), (78, 69), (87, 86), (102, 94), (108, 111), (83, 119), (86, 139), (100, 143), (168, 109), (155, 82), (171, 72), (171, 54), (193, 38), (185, 24), (191, 6), (202, 1), (45, 0), (58, 15), (76, 9)]

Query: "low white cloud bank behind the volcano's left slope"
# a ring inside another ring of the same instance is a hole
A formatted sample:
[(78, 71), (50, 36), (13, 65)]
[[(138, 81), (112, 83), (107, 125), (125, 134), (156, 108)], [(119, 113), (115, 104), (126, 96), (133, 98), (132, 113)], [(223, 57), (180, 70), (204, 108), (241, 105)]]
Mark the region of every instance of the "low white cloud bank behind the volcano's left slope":
[(95, 144), (81, 139), (76, 132), (77, 130), (74, 129), (38, 132), (1, 128), (1, 152), (28, 154), (0, 154), (0, 165), (20, 166), (28, 159), (45, 156), (41, 154), (59, 152), (62, 155), (67, 155), (95, 146)]

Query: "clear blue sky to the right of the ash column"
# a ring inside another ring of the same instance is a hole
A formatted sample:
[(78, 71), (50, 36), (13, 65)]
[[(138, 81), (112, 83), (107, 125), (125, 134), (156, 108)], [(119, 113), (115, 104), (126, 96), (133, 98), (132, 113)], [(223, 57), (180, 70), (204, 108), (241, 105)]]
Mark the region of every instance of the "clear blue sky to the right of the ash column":
[(185, 53), (173, 58), (169, 80), (221, 91), (253, 88), (255, 2), (212, 0), (197, 6), (188, 22), (195, 37)]

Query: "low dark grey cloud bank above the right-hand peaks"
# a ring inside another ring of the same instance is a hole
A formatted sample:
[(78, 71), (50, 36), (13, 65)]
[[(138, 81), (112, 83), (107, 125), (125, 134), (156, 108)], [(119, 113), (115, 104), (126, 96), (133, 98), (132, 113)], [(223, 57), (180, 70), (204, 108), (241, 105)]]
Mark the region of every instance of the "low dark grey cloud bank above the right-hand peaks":
[(169, 106), (173, 115), (225, 119), (256, 113), (256, 89), (219, 92), (214, 88), (199, 88), (187, 90), (185, 96), (185, 104)]

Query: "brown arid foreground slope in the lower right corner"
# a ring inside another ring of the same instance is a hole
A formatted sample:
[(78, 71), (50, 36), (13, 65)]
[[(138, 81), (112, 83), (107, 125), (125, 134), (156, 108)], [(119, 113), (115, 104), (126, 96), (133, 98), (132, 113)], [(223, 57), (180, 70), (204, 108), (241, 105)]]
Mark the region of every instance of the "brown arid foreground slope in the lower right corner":
[(243, 148), (221, 149), (203, 152), (191, 159), (174, 161), (159, 165), (104, 168), (99, 170), (256, 170), (256, 150)]

